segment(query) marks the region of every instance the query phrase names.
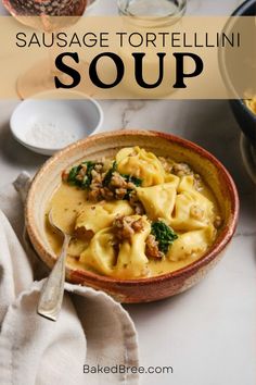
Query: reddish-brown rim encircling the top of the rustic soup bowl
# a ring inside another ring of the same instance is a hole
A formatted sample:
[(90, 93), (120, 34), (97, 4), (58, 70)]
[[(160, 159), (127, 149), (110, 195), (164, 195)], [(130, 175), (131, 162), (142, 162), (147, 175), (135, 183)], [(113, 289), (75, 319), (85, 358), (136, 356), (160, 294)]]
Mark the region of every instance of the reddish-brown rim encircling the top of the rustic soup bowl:
[[(167, 134), (167, 133), (162, 133), (157, 131), (138, 131), (138, 129), (126, 129), (126, 131), (114, 131), (114, 132), (107, 132), (107, 133), (101, 133), (101, 134), (95, 134), (91, 137), (78, 140), (65, 149), (59, 151), (55, 153), (53, 157), (51, 157), (43, 165), (42, 167), (37, 172), (35, 175), (28, 195), (25, 203), (25, 224), (26, 224), (26, 229), (29, 235), (29, 238), (35, 246), (36, 250), (42, 250), (44, 256), (47, 256), (50, 260), (54, 261), (54, 254), (50, 253), (46, 250), (43, 243), (40, 239), (40, 235), (38, 234), (36, 229), (36, 224), (33, 219), (33, 210), (34, 210), (34, 199), (35, 195), (37, 192), (37, 183), (40, 181), (40, 177), (44, 174), (44, 172), (48, 170), (52, 163), (56, 162), (60, 158), (68, 153), (71, 150), (75, 149), (76, 147), (79, 147), (84, 145), (85, 142), (93, 142), (97, 140), (101, 140), (104, 137), (113, 137), (117, 138), (120, 136), (154, 136), (154, 137), (159, 137), (163, 139), (166, 139), (167, 141), (175, 142), (181, 147), (184, 147), (192, 152), (196, 153), (200, 157), (206, 158), (210, 163), (213, 163), (216, 169), (218, 169), (219, 173), (222, 174), (222, 177), (226, 182), (226, 187), (229, 189), (229, 195), (231, 197), (231, 213), (230, 216), (227, 221), (227, 224), (225, 228), (222, 229), (221, 234), (217, 238), (217, 241), (214, 243), (213, 247), (206, 252), (203, 257), (201, 257), (199, 260), (190, 263), (189, 265), (176, 270), (170, 273), (165, 273), (162, 275), (153, 276), (153, 277), (146, 277), (146, 278), (137, 278), (137, 280), (119, 280), (115, 277), (110, 277), (110, 276), (104, 276), (100, 274), (95, 274), (89, 271), (84, 271), (84, 270), (75, 270), (71, 269), (69, 266), (66, 266), (66, 272), (71, 272), (74, 274), (76, 277), (85, 278), (84, 281), (86, 282), (86, 278), (93, 280), (93, 282), (97, 285), (97, 282), (100, 283), (110, 283), (110, 284), (118, 284), (123, 287), (135, 285), (135, 286), (148, 286), (153, 283), (159, 283), (163, 281), (168, 281), (171, 278), (179, 278), (179, 277), (184, 277), (184, 276), (191, 276), (194, 273), (196, 273), (200, 269), (202, 269), (204, 265), (207, 265), (209, 262), (212, 262), (225, 248), (226, 246), (230, 243), (236, 225), (238, 225), (238, 218), (239, 218), (239, 208), (240, 208), (240, 201), (239, 201), (239, 195), (238, 190), (235, 187), (235, 184), (229, 174), (229, 172), (226, 170), (226, 167), (222, 165), (222, 163), (217, 160), (210, 152), (202, 148), (201, 146), (194, 144), (193, 141), (190, 141), (188, 139), (183, 139), (179, 136), (172, 135), (172, 134)], [(37, 252), (39, 254), (39, 252)], [(43, 258), (39, 254), (39, 258), (43, 261)], [(43, 261), (44, 262), (44, 261)], [(44, 262), (46, 263), (46, 262)], [(72, 283), (72, 280), (68, 280)]]

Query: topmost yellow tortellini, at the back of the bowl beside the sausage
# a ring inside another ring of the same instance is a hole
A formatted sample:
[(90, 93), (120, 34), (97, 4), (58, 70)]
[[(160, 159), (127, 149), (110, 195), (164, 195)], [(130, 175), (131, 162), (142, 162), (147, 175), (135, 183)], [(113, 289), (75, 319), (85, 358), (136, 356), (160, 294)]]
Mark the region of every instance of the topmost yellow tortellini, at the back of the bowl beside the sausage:
[(142, 186), (154, 186), (165, 182), (165, 170), (152, 152), (139, 147), (125, 148), (116, 156), (118, 171), (142, 179)]

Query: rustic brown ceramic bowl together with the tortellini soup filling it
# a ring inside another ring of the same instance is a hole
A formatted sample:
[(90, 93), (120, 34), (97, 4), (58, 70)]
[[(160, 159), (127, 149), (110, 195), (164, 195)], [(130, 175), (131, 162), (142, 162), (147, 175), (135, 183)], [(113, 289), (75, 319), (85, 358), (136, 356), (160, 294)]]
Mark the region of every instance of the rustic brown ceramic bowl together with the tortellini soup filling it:
[(238, 220), (235, 186), (199, 146), (121, 131), (78, 141), (36, 175), (26, 204), (31, 243), (50, 266), (72, 234), (66, 278), (121, 302), (181, 293), (220, 259)]

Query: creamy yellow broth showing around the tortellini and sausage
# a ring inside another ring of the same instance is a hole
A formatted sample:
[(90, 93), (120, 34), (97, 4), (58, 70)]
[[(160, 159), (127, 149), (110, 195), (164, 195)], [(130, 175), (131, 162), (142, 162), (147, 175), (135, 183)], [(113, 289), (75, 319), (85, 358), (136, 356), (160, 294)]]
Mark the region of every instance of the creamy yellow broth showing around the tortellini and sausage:
[[(215, 214), (219, 215), (219, 209), (218, 209), (217, 201), (214, 197), (214, 194), (203, 181), (201, 181), (200, 192), (204, 197), (206, 197), (210, 202), (214, 203)], [(48, 222), (49, 211), (53, 209), (54, 222), (61, 228), (63, 228), (63, 231), (73, 234), (75, 229), (77, 215), (86, 204), (89, 204), (87, 200), (86, 190), (80, 189), (78, 187), (71, 186), (66, 183), (62, 183), (56, 189), (56, 191), (53, 194), (52, 199), (49, 202), (46, 211), (46, 233), (47, 233), (49, 244), (56, 256), (60, 254), (63, 239), (50, 226)], [(179, 231), (177, 232), (177, 234), (178, 235), (180, 234)], [(68, 249), (67, 264), (72, 269), (79, 269), (86, 271), (89, 270), (98, 274), (101, 274), (101, 272), (94, 270), (92, 266), (86, 266), (85, 263), (79, 261), (79, 256), (88, 247), (88, 245), (89, 241), (87, 240), (73, 239)], [(166, 257), (163, 258), (162, 260), (149, 259), (148, 266), (151, 271), (150, 275), (155, 276), (168, 272), (174, 272), (176, 270), (189, 265), (190, 263), (194, 262), (196, 259), (201, 257), (202, 254), (199, 254), (197, 257), (194, 256), (188, 257), (179, 261), (170, 261)], [(115, 274), (112, 274), (112, 276), (115, 276)], [(130, 276), (126, 276), (125, 271), (124, 274), (118, 274), (118, 277), (124, 280), (130, 278)]]

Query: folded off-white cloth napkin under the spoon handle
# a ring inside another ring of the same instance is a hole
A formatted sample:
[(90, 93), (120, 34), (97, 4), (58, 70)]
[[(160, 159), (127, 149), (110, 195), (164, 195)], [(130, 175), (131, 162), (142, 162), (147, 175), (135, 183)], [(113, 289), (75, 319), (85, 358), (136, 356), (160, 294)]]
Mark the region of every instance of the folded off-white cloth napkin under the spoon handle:
[(138, 367), (136, 330), (110, 296), (65, 283), (57, 322), (36, 313), (44, 280), (35, 274), (46, 273), (21, 244), (28, 184), (22, 174), (20, 196), (11, 185), (0, 191), (0, 384), (137, 385), (138, 375), (125, 370)]

